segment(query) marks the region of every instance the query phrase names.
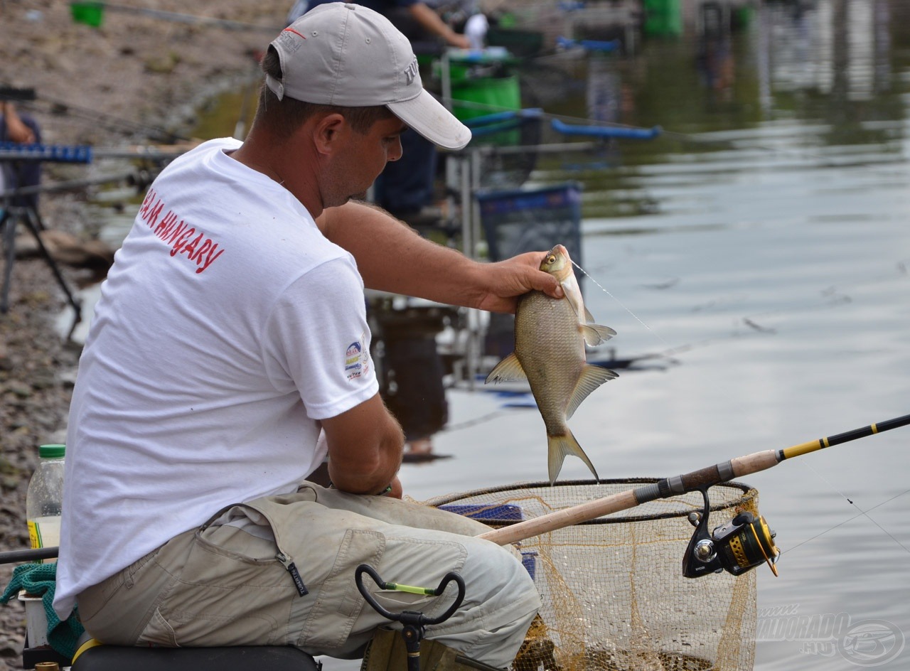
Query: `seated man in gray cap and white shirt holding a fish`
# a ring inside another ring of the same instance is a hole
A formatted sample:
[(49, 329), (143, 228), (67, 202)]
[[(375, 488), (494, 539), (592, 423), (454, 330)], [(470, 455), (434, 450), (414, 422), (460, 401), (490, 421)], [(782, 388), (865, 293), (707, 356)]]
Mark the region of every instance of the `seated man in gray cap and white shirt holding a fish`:
[[(540, 599), (511, 548), (475, 537), (485, 526), (400, 500), (363, 288), (501, 312), (561, 289), (542, 252), (475, 263), (354, 200), (406, 127), (470, 140), (387, 19), (319, 6), (263, 70), (248, 139), (167, 166), (103, 286), (70, 410), (56, 610), (77, 604), (109, 644), (353, 658), (388, 624), (357, 566), (418, 586), (456, 571), (464, 603), (427, 629), (455, 653), (436, 668), (508, 666)], [(333, 486), (305, 482), (327, 455)], [(376, 598), (428, 616), (451, 603)]]

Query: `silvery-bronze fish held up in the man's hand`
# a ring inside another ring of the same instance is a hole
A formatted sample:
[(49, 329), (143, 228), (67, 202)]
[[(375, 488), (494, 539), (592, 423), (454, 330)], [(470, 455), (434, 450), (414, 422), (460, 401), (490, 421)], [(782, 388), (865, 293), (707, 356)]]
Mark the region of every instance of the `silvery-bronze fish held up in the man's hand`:
[(599, 345), (616, 332), (593, 323), (564, 246), (551, 249), (541, 270), (559, 280), (565, 296), (553, 298), (541, 291), (521, 296), (515, 311), (515, 351), (490, 371), (486, 382), (528, 380), (547, 427), (551, 484), (566, 455), (579, 457), (600, 479), (566, 422), (594, 389), (617, 377), (612, 370), (588, 364), (584, 354), (586, 343)]

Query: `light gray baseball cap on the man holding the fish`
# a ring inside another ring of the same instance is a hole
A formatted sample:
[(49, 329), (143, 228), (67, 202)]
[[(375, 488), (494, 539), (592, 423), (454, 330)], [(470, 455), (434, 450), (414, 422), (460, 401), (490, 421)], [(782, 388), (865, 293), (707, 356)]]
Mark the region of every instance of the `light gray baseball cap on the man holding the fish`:
[(417, 56), (389, 19), (368, 7), (317, 5), (271, 43), (281, 81), (266, 76), (280, 100), (366, 107), (386, 105), (430, 142), (460, 149), (470, 130), (423, 88)]

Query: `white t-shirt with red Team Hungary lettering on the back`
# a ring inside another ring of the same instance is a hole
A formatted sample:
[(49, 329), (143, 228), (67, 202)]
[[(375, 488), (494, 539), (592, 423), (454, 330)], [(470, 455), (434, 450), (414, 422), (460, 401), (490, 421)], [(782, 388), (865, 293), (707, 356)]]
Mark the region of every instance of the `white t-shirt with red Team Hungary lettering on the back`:
[(283, 186), (212, 140), (148, 190), (102, 286), (68, 434), (54, 606), (294, 491), (319, 421), (374, 396), (361, 279)]

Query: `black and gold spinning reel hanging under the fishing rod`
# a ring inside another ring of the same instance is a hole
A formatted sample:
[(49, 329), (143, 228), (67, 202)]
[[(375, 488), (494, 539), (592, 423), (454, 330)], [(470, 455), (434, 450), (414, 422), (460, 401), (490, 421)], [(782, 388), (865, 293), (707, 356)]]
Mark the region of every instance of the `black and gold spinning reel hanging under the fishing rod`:
[(682, 557), (682, 575), (700, 577), (726, 570), (733, 576), (741, 576), (755, 566), (767, 563), (776, 576), (777, 567), (774, 564), (780, 551), (774, 545), (775, 535), (764, 517), (756, 519), (752, 513), (745, 511), (709, 532), (711, 502), (707, 487), (701, 492), (703, 510), (689, 514), (695, 533)]

